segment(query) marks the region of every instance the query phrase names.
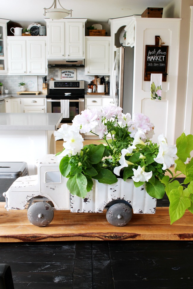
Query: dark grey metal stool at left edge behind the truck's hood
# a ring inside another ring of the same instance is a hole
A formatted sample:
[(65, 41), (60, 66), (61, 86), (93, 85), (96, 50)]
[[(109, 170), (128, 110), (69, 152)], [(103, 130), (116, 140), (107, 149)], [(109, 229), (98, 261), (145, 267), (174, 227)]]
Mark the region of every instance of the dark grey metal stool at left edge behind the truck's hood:
[(28, 174), (26, 162), (0, 162), (0, 202), (5, 202), (2, 194), (9, 189), (12, 183), (18, 177)]

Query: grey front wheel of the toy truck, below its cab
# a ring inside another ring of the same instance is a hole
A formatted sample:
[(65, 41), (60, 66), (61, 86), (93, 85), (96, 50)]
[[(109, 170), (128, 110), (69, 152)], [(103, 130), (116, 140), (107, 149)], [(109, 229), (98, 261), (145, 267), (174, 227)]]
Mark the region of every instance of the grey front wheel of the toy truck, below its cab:
[(36, 202), (28, 209), (28, 220), (38, 227), (47, 226), (53, 217), (53, 208), (46, 202)]

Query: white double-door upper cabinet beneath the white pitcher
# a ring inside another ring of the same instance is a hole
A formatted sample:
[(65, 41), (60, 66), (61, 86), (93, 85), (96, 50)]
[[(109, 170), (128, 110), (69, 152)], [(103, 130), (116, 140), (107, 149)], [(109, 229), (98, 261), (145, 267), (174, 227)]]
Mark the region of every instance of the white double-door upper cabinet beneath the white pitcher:
[(46, 37), (8, 36), (9, 74), (45, 75), (48, 73), (46, 62)]

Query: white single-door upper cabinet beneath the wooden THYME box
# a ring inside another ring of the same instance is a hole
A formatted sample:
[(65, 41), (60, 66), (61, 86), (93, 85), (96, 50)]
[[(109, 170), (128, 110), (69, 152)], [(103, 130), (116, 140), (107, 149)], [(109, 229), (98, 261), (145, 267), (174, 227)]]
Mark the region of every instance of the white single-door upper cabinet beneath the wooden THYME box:
[(85, 37), (86, 75), (109, 75), (110, 73), (110, 37)]

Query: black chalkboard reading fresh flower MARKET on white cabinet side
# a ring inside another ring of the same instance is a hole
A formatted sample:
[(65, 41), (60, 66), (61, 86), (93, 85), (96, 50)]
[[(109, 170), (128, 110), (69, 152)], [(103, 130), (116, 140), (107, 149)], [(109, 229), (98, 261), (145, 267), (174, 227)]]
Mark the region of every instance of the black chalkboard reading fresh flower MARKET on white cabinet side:
[(162, 81), (167, 79), (168, 46), (145, 45), (144, 80), (150, 81), (151, 73), (162, 73)]

